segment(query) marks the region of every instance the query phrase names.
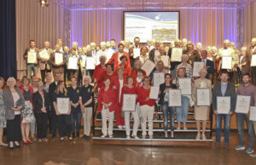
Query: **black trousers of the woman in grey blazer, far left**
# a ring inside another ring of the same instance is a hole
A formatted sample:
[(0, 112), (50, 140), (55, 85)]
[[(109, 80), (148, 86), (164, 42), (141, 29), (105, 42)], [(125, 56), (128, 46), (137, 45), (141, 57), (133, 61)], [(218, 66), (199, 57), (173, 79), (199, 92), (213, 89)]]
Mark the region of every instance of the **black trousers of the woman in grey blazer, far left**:
[(13, 120), (7, 120), (7, 141), (20, 141), (21, 128), (20, 128), (20, 115), (15, 115)]

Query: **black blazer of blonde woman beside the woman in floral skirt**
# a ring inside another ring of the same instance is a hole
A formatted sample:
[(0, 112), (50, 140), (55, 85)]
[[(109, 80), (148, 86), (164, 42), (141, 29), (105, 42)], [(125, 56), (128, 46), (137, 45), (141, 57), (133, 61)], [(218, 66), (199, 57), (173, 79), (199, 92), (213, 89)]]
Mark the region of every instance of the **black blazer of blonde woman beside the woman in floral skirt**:
[[(34, 105), (34, 113), (43, 113), (41, 109), (43, 108), (43, 99), (39, 92), (33, 94), (33, 105)], [(46, 111), (49, 111), (49, 95), (44, 92), (44, 107), (46, 107)]]

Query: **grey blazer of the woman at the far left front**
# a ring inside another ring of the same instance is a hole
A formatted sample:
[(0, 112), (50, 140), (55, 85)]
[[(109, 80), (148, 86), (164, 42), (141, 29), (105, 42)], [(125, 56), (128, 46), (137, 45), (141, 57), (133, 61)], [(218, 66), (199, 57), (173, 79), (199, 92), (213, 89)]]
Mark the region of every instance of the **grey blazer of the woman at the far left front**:
[[(21, 99), (21, 105), (24, 107), (25, 100), (23, 94), (21, 93), (20, 88), (15, 88), (17, 94), (19, 94)], [(3, 103), (5, 105), (5, 118), (6, 120), (14, 120), (15, 119), (15, 111), (12, 110), (12, 107), (15, 106), (15, 101), (13, 95), (9, 88), (3, 90)]]

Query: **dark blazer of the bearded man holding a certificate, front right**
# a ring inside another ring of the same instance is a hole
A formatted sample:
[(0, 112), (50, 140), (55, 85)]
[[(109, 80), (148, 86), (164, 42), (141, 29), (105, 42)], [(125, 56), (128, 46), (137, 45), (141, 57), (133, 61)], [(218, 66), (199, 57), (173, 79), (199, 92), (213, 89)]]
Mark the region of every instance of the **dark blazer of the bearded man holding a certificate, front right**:
[[(212, 110), (217, 111), (217, 96), (223, 96), (221, 93), (221, 83), (218, 82), (214, 85), (212, 89)], [(232, 83), (228, 83), (226, 92), (224, 96), (231, 96), (231, 110), (232, 112), (235, 111), (236, 107), (236, 88), (235, 85)]]

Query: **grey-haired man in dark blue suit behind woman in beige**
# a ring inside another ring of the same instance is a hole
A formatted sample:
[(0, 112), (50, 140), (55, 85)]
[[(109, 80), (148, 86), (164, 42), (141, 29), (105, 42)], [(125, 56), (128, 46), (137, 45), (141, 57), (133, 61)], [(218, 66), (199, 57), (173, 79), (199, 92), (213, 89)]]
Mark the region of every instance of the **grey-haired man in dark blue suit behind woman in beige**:
[[(201, 51), (201, 60), (199, 61), (202, 61), (204, 62), (204, 68), (207, 70), (207, 78), (212, 77), (212, 74), (215, 73), (215, 68), (214, 68), (214, 64), (212, 62), (212, 60), (208, 60), (207, 59), (207, 50), (202, 50)], [(212, 79), (211, 79), (212, 81)]]

